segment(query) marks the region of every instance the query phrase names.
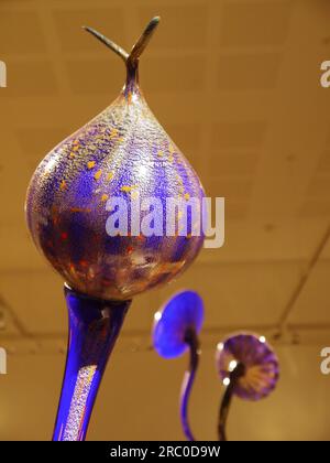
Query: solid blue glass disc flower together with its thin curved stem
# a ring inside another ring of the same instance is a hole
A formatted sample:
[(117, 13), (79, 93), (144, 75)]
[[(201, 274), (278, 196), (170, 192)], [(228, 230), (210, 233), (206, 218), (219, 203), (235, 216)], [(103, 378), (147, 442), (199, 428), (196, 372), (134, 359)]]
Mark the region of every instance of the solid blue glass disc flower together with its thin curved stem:
[(188, 401), (200, 355), (198, 333), (204, 321), (202, 299), (195, 291), (179, 292), (155, 313), (154, 319), (153, 344), (162, 357), (178, 357), (189, 349), (189, 367), (182, 385), (180, 420), (186, 438), (195, 441), (188, 421)]

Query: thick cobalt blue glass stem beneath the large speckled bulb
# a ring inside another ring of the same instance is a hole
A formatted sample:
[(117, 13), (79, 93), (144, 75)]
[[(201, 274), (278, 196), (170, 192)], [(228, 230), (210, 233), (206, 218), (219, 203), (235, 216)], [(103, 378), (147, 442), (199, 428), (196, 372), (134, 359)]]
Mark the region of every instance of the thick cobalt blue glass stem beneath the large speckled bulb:
[(69, 336), (53, 441), (84, 441), (97, 392), (131, 301), (103, 301), (65, 286)]

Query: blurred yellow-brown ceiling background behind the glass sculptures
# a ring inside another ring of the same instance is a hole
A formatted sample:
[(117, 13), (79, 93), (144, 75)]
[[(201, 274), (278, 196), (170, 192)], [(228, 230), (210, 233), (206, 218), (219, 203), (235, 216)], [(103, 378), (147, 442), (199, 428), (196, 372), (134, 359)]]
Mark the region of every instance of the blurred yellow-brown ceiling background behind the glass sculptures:
[(0, 0), (0, 440), (48, 440), (65, 364), (63, 281), (26, 232), (24, 196), (42, 158), (108, 106), (124, 66), (81, 30), (130, 49), (155, 14), (141, 60), (146, 99), (197, 170), (226, 197), (226, 244), (176, 282), (135, 298), (97, 400), (91, 440), (180, 440), (187, 358), (151, 347), (154, 312), (175, 291), (205, 299), (202, 360), (191, 397), (200, 440), (216, 439), (222, 386), (215, 349), (234, 331), (263, 334), (280, 360), (267, 399), (233, 400), (229, 439), (328, 440), (330, 240), (294, 304), (330, 216), (330, 60), (326, 0)]

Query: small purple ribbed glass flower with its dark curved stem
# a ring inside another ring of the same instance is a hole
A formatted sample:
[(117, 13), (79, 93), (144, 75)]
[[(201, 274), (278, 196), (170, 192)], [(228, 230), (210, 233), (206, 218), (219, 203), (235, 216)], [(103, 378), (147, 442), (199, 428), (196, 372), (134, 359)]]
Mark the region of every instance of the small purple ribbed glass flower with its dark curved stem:
[(217, 346), (216, 364), (227, 386), (218, 420), (220, 441), (226, 441), (226, 423), (232, 395), (244, 400), (268, 396), (279, 376), (278, 359), (264, 336), (240, 333)]

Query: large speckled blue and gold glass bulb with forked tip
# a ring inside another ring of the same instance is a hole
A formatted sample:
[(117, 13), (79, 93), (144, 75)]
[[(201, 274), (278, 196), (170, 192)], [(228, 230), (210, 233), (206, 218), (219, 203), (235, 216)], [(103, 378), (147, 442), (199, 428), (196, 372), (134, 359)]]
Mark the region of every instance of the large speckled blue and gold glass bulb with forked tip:
[[(166, 198), (201, 201), (205, 193), (139, 86), (139, 56), (155, 20), (130, 55), (88, 29), (123, 57), (127, 84), (107, 109), (45, 157), (28, 191), (26, 218), (36, 247), (72, 288), (94, 298), (127, 300), (172, 280), (204, 241), (202, 233), (166, 236)], [(107, 229), (113, 197), (128, 204), (127, 236), (110, 236)], [(132, 233), (132, 201), (154, 197), (162, 204), (163, 235)]]

